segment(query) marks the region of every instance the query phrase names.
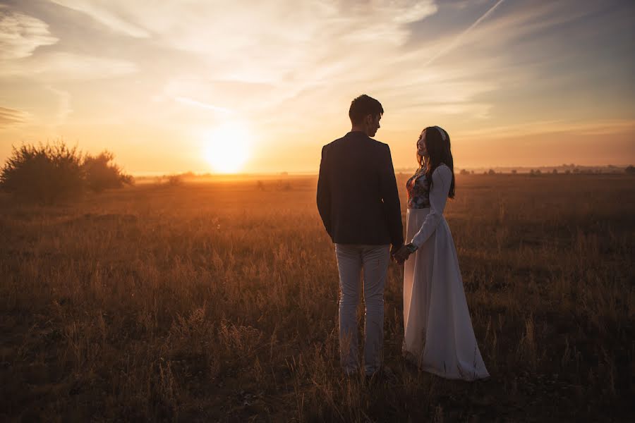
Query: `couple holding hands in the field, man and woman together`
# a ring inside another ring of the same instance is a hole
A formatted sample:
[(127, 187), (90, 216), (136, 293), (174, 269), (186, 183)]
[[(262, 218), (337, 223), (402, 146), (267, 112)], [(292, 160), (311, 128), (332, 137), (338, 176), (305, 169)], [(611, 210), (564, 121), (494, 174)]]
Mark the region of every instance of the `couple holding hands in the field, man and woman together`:
[[(390, 257), (404, 264), (406, 360), (447, 379), (489, 376), (465, 298), (459, 260), (443, 210), (454, 197), (449, 135), (425, 128), (416, 144), (418, 170), (406, 183), (406, 241), (392, 158), (373, 140), (384, 109), (361, 95), (351, 102), (352, 128), (322, 148), (317, 209), (334, 245), (339, 270), (339, 350), (346, 374), (359, 371), (357, 305), (363, 271), (363, 370), (382, 367), (384, 286)], [(390, 247), (392, 245), (392, 249)]]

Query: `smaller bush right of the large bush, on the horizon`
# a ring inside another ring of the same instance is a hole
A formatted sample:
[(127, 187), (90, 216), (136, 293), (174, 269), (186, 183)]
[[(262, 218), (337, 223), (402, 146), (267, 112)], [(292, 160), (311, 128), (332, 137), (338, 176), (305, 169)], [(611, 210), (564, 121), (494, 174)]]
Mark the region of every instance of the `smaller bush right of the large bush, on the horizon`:
[(114, 163), (114, 154), (108, 151), (98, 156), (86, 155), (82, 168), (87, 188), (93, 192), (102, 192), (109, 188), (121, 188), (124, 184), (132, 185), (133, 177), (126, 175)]

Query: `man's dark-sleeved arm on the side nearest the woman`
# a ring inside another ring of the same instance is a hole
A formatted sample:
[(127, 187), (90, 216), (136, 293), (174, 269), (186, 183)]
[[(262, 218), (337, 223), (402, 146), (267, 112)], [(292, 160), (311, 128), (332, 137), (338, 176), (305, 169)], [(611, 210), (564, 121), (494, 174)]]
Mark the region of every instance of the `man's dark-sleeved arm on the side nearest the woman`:
[(397, 250), (401, 245), (404, 245), (404, 225), (401, 223), (399, 190), (397, 190), (397, 179), (394, 177), (392, 157), (388, 145), (386, 145), (386, 151), (383, 154), (380, 166), (380, 192), (384, 200), (384, 212), (392, 248)]

